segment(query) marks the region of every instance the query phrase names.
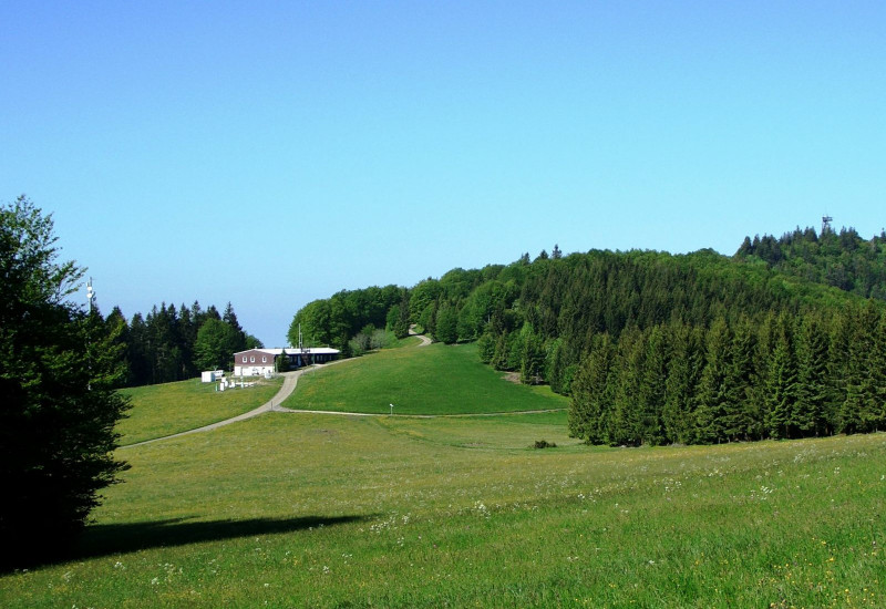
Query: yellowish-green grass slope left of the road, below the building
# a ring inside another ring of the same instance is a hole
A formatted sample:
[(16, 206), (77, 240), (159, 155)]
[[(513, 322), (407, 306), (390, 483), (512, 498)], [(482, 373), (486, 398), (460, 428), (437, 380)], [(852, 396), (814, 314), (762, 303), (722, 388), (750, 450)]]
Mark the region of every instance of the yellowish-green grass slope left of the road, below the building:
[(123, 390), (132, 399), (133, 407), (117, 427), (123, 435), (121, 444), (153, 440), (243, 414), (270, 400), (281, 384), (282, 379), (262, 380), (253, 388), (217, 392), (215, 383), (192, 379)]

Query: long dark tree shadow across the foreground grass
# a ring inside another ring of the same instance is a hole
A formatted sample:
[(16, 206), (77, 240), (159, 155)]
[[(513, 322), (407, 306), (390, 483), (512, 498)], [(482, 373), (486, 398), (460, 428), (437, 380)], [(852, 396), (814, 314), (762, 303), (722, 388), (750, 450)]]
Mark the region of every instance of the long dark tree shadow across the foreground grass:
[[(238, 537), (276, 535), (311, 528), (331, 527), (359, 523), (372, 518), (365, 516), (303, 516), (300, 518), (251, 518), (248, 520), (187, 522), (188, 518), (171, 518), (147, 523), (120, 525), (91, 525), (68, 548), (52, 547), (50, 553), (34, 551), (32, 556), (19, 556), (14, 566), (0, 566), (0, 572), (11, 568), (34, 568), (69, 560), (96, 558), (114, 554), (186, 546), (203, 541), (218, 541)], [(32, 550), (38, 548), (32, 547)], [(47, 549), (45, 547), (43, 549)], [(39, 556), (42, 554), (42, 556)]]

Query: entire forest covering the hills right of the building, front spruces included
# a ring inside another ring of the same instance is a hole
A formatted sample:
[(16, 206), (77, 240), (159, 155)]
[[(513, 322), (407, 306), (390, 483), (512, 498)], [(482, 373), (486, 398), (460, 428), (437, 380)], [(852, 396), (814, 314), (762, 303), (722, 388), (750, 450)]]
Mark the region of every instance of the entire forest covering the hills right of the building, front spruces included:
[(342, 291), (300, 309), (289, 339), (358, 354), (354, 338), (415, 323), (476, 341), (496, 370), (569, 395), (569, 432), (591, 444), (795, 438), (886, 429), (885, 298), (886, 235), (807, 228), (732, 257), (555, 246)]

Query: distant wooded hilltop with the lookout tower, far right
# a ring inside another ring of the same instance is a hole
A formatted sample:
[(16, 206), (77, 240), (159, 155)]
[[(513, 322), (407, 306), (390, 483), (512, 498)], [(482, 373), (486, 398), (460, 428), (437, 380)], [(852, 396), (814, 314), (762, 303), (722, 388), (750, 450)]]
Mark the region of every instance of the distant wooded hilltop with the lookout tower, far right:
[(825, 283), (864, 298), (886, 300), (886, 233), (869, 240), (853, 228), (814, 228), (744, 238), (735, 258), (765, 262), (786, 275)]

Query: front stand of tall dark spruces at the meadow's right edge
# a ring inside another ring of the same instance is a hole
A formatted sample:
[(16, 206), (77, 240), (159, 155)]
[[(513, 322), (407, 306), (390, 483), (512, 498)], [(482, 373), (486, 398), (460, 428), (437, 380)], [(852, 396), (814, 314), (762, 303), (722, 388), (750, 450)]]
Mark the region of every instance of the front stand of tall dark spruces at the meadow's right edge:
[(886, 314), (668, 322), (596, 334), (571, 388), (569, 432), (593, 444), (710, 444), (886, 429)]

